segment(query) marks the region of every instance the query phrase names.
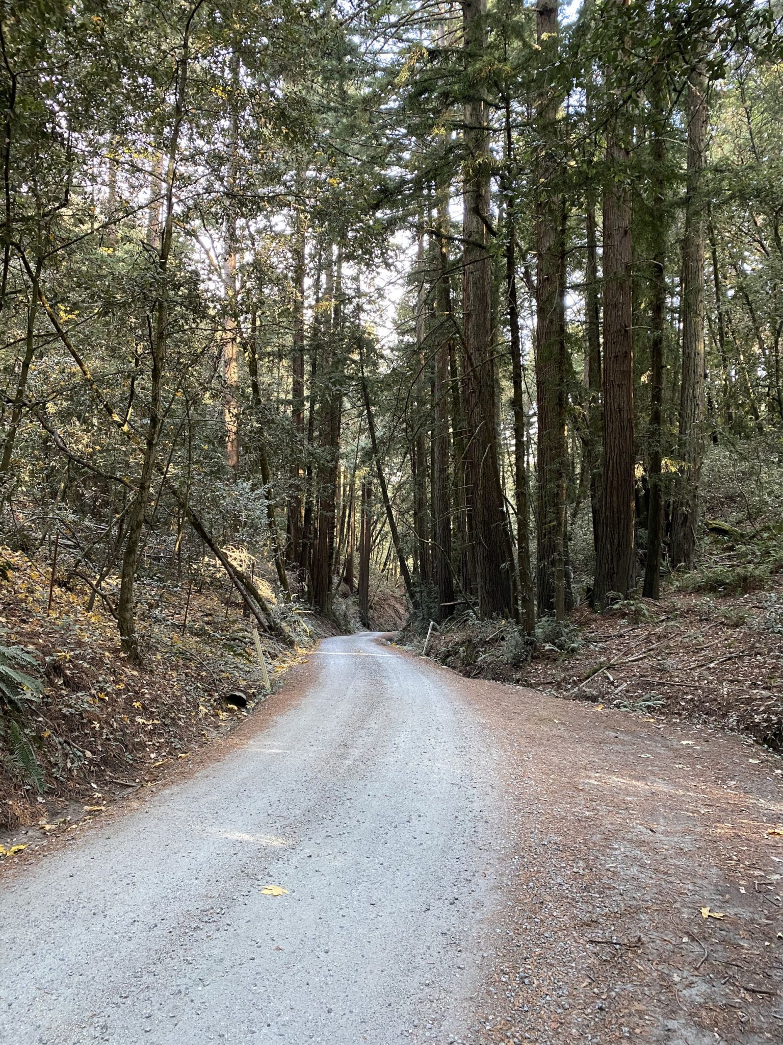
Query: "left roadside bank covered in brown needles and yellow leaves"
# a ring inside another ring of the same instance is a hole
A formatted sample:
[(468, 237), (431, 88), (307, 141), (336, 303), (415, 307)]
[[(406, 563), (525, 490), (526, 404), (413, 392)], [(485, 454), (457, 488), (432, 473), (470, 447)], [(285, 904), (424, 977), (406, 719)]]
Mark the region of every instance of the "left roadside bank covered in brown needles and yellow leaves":
[[(61, 561), (57, 574), (67, 576)], [(0, 549), (0, 643), (31, 653), (46, 683), (24, 720), (44, 793), (7, 758), (0, 760), (0, 831), (6, 831), (0, 845), (6, 850), (99, 814), (114, 797), (156, 782), (232, 729), (246, 712), (223, 700), (231, 691), (247, 696), (247, 711), (264, 699), (251, 619), (242, 617), (224, 578), (208, 578), (200, 591), (187, 581), (139, 582), (144, 664), (136, 668), (120, 653), (111, 613), (100, 600), (88, 611), (89, 591), (78, 582), (54, 584), (47, 614), (50, 567), (7, 548)], [(296, 649), (262, 636), (272, 687), (310, 642), (312, 619), (308, 624), (292, 613), (291, 620), (293, 626), (300, 621)]]

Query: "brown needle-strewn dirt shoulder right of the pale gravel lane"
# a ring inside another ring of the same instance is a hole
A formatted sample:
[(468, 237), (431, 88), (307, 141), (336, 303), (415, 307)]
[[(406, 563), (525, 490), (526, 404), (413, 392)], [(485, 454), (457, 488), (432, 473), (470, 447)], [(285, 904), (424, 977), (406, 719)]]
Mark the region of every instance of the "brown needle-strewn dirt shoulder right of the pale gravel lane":
[(780, 1041), (783, 761), (692, 724), (457, 690), (497, 745), (511, 839), (471, 1045)]

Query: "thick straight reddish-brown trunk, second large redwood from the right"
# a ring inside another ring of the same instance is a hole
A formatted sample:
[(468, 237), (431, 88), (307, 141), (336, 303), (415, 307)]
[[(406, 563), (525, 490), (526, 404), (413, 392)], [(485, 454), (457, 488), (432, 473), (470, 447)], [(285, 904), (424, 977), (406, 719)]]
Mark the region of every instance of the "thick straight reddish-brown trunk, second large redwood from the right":
[[(628, 0), (618, 0), (626, 7)], [(623, 85), (616, 91), (619, 96)], [(634, 351), (631, 278), (628, 120), (620, 111), (607, 135), (603, 190), (603, 485), (593, 599), (625, 598), (635, 580)]]

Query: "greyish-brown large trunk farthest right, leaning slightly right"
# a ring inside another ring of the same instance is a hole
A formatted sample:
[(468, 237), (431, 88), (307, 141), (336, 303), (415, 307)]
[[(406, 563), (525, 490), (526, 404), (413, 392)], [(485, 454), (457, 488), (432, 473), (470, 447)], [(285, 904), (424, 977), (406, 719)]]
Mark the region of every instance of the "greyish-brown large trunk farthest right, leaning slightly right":
[(672, 566), (693, 565), (698, 488), (705, 446), (704, 256), (702, 199), (707, 153), (707, 75), (693, 71), (688, 85), (688, 187), (683, 239), (683, 372), (680, 385), (680, 460), (671, 513)]

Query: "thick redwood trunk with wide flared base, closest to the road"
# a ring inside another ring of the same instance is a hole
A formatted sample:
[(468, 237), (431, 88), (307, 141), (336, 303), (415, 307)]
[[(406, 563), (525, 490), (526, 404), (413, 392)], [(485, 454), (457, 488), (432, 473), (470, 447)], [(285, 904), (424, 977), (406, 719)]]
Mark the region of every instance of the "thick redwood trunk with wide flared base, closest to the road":
[(506, 527), (496, 439), (492, 355), (492, 270), (488, 250), (490, 165), (487, 113), (476, 69), (484, 60), (485, 0), (462, 0), (466, 68), (473, 80), (465, 102), (462, 190), (462, 395), (466, 504), (472, 573), (482, 617), (516, 616), (514, 557)]

